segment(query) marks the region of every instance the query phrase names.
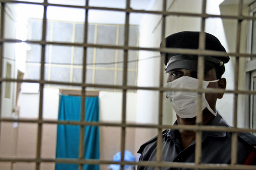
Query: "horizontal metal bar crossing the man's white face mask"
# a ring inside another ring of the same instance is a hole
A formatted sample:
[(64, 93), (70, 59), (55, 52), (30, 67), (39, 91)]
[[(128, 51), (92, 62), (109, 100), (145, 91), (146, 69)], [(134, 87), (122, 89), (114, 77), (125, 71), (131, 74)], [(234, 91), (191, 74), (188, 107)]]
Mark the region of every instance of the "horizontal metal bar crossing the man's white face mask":
[(165, 87), (139, 87), (139, 86), (122, 86), (122, 85), (99, 85), (99, 84), (84, 84), (84, 83), (71, 83), (71, 82), (57, 82), (46, 80), (30, 80), (30, 79), (12, 79), (12, 78), (0, 78), (0, 82), (28, 82), (39, 84), (51, 84), (51, 85), (73, 85), (80, 87), (94, 87), (94, 88), (116, 88), (127, 90), (155, 90), (160, 92), (165, 91), (183, 91), (183, 92), (200, 92), (200, 93), (232, 93), (243, 95), (256, 95), (256, 91), (250, 90), (223, 90), (219, 88), (207, 88), (207, 89), (187, 89), (187, 88), (165, 88)]

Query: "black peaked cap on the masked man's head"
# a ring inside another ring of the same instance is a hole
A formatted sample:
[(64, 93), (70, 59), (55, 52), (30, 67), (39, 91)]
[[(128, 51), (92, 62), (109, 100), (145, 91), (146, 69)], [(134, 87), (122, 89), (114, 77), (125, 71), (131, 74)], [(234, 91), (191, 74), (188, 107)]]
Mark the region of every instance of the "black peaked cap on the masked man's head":
[[(183, 31), (169, 35), (165, 38), (166, 48), (198, 49), (199, 34), (200, 32)], [(217, 37), (209, 33), (205, 33), (205, 49), (226, 52), (225, 48), (221, 45), (221, 42), (217, 39)], [(215, 67), (217, 69), (221, 69), (223, 74), (225, 71), (224, 63), (227, 63), (228, 61), (228, 55), (206, 56), (205, 71), (209, 71)], [(197, 55), (166, 53), (165, 66), (167, 66), (166, 72), (175, 68), (185, 68), (188, 70), (197, 71)]]

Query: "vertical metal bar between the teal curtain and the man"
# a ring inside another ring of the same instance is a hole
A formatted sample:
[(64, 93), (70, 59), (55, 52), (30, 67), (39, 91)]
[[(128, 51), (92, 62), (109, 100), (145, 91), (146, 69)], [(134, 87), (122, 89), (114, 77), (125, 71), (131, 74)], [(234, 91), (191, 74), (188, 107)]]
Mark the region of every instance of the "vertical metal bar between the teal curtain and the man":
[[(126, 9), (130, 9), (130, 0), (126, 0)], [(129, 44), (129, 18), (130, 13), (126, 12), (125, 16), (125, 30), (124, 30), (124, 46), (128, 46)], [(127, 61), (128, 61), (128, 50), (124, 50), (123, 57), (123, 86), (127, 85)], [(126, 123), (126, 89), (123, 89), (123, 101), (122, 101), (122, 124)], [(125, 135), (126, 128), (122, 127), (121, 132), (121, 161), (124, 160), (124, 151), (125, 151)], [(121, 165), (121, 170), (123, 170), (124, 165)]]

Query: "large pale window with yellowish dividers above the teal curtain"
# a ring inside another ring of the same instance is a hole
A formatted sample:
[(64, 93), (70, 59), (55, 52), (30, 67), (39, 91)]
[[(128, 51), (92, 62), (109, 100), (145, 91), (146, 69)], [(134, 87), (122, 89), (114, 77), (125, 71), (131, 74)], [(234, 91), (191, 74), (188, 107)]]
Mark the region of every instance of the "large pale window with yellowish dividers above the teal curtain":
[[(130, 25), (130, 46), (138, 46), (139, 27)], [(83, 43), (84, 23), (48, 20), (46, 41)], [(88, 24), (88, 43), (124, 44), (124, 25)], [(42, 20), (29, 20), (29, 40), (41, 40)], [(38, 44), (31, 44), (28, 51), (27, 78), (40, 77), (40, 52)], [(138, 52), (128, 51), (128, 85), (136, 85)], [(45, 79), (50, 81), (81, 83), (83, 47), (47, 45)], [(86, 82), (90, 84), (122, 85), (123, 50), (108, 48), (87, 49)], [(48, 85), (58, 87), (58, 85)], [(64, 86), (76, 88), (74, 86)], [(63, 86), (62, 86), (63, 88)]]

